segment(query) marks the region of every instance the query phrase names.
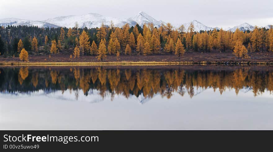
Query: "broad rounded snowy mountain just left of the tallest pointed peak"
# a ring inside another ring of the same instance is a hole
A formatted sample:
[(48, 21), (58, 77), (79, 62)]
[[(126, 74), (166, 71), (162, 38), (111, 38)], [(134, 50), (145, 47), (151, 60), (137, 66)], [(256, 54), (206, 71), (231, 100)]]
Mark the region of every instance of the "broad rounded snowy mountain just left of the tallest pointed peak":
[(79, 27), (84, 28), (96, 28), (101, 27), (101, 24), (111, 25), (113, 21), (115, 26), (122, 27), (124, 24), (129, 23), (130, 26), (134, 26), (137, 23), (132, 20), (105, 17), (96, 13), (89, 13), (86, 15), (73, 15), (73, 16), (60, 16), (53, 19), (47, 19), (44, 22), (55, 24), (61, 27), (74, 27), (75, 23), (78, 22)]

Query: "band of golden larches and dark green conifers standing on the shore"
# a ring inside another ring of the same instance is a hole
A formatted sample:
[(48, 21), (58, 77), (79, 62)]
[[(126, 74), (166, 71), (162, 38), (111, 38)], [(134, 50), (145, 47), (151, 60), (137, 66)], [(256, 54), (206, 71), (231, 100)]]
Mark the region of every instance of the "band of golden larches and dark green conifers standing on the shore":
[(209, 30), (195, 32), (194, 25), (175, 29), (170, 23), (122, 28), (101, 25), (100, 28), (38, 28), (27, 26), (0, 27), (0, 53), (18, 56), (25, 48), (30, 54), (71, 54), (74, 58), (95, 55), (99, 60), (108, 54), (149, 55), (176, 54), (185, 51), (210, 52), (233, 50), (238, 58), (248, 58), (248, 52), (273, 51), (273, 29), (258, 28), (235, 32)]

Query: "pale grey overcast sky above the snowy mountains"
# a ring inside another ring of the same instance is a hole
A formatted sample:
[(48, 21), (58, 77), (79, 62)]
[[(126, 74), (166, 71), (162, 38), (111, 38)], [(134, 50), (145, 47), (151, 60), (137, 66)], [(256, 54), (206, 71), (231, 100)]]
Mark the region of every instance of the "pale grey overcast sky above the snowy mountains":
[(0, 0), (0, 19), (43, 21), (68, 15), (98, 13), (129, 18), (143, 11), (173, 24), (197, 20), (209, 27), (273, 24), (273, 0)]

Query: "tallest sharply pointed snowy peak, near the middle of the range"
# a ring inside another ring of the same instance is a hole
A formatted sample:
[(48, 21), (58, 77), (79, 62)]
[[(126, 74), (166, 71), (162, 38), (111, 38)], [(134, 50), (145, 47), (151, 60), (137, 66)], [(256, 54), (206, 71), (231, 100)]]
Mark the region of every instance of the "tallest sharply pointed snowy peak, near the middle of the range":
[(149, 16), (145, 12), (139, 12), (136, 16), (129, 18), (129, 20), (136, 21), (141, 27), (144, 24), (153, 23), (155, 27), (160, 27), (161, 24), (165, 24), (163, 21), (157, 21), (153, 17)]

